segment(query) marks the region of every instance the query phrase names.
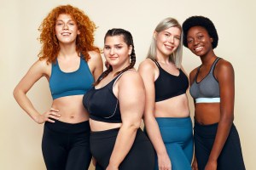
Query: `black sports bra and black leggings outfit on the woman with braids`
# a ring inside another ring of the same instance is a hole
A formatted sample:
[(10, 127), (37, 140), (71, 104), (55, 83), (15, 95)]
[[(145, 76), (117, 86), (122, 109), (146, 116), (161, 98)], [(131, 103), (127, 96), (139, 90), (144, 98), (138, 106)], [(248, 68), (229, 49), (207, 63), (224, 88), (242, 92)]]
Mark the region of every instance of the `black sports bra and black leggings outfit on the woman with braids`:
[[(122, 76), (120, 73), (103, 88), (91, 88), (84, 95), (83, 104), (90, 113), (90, 119), (99, 122), (122, 122), (119, 110), (119, 100), (113, 94), (115, 82)], [(129, 89), (127, 89), (129, 90)], [(113, 151), (119, 128), (90, 133), (90, 150), (96, 158), (96, 170), (106, 169)], [(153, 170), (154, 148), (149, 139), (138, 128), (131, 150), (119, 165), (120, 170)]]

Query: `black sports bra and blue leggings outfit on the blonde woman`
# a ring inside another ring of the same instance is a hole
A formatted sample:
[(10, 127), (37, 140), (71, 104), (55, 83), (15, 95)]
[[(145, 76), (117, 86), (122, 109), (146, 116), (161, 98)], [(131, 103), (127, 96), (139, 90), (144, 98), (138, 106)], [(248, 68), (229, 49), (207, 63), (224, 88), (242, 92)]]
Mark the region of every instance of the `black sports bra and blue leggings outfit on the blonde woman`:
[[(154, 82), (155, 102), (185, 94), (189, 88), (188, 77), (179, 69), (174, 76), (157, 65), (160, 74)], [(166, 145), (168, 156), (172, 162), (172, 170), (190, 170), (193, 156), (193, 133), (190, 117), (156, 117), (162, 139)], [(158, 169), (156, 160), (155, 170)]]

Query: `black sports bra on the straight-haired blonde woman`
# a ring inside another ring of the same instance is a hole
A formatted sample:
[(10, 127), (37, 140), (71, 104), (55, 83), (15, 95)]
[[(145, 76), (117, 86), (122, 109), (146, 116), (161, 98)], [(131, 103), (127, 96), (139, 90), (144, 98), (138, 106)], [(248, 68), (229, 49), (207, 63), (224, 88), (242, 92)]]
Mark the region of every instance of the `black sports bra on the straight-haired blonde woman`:
[(156, 60), (152, 60), (159, 68), (159, 77), (154, 82), (155, 102), (185, 94), (189, 88), (189, 80), (183, 71), (179, 69), (179, 75), (174, 76), (162, 69)]

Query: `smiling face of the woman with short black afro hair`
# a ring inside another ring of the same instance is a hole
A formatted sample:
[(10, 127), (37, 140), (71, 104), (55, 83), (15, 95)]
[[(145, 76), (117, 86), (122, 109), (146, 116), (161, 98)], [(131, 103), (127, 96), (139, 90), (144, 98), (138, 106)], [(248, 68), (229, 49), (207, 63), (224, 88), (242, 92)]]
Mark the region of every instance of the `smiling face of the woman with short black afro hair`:
[(206, 55), (212, 50), (212, 37), (207, 30), (201, 26), (193, 26), (187, 35), (188, 48), (197, 56)]

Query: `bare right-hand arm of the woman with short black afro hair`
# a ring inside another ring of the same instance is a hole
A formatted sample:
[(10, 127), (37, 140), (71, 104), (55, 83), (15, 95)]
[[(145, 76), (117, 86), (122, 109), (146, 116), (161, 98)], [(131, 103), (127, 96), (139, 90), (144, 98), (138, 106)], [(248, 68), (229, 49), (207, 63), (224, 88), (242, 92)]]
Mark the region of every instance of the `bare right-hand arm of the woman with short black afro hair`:
[(220, 120), (206, 169), (217, 169), (218, 156), (223, 149), (234, 120), (235, 75), (232, 65), (221, 59), (216, 65), (220, 89)]

